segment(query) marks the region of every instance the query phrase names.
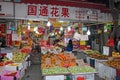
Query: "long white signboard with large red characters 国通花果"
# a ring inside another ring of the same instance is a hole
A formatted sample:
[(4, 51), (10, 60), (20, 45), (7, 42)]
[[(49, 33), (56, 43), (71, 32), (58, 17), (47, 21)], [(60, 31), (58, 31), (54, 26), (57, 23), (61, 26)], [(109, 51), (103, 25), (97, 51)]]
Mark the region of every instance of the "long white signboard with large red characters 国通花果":
[[(98, 20), (100, 10), (90, 9), (92, 13), (87, 14), (87, 8), (77, 8), (57, 5), (41, 5), (41, 4), (22, 4), (16, 3), (15, 17), (24, 19), (70, 19), (70, 20)], [(21, 11), (21, 12), (20, 12)], [(93, 19), (95, 18), (95, 19)]]

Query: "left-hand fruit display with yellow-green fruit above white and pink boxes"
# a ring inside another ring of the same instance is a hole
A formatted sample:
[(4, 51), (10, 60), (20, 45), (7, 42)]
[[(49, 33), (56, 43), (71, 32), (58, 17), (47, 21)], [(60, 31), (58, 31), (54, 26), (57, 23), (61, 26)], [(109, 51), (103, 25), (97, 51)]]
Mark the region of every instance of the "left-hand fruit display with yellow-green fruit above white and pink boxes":
[(14, 80), (14, 77), (19, 80), (23, 77), (28, 67), (28, 61), (26, 61), (26, 59), (28, 58), (27, 52), (29, 52), (29, 50), (23, 52), (16, 50), (13, 51), (9, 57), (8, 54), (10, 53), (3, 57), (0, 62), (0, 80)]

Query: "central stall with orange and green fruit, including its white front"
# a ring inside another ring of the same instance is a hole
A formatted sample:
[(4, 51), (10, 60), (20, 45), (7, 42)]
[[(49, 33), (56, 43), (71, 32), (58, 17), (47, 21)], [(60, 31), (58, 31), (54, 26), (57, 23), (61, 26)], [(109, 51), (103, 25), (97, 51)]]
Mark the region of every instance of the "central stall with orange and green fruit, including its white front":
[[(76, 80), (81, 75), (84, 75), (84, 79), (94, 80), (94, 74), (97, 72), (88, 64), (85, 64), (82, 59), (77, 60), (73, 54), (62, 52), (58, 54), (47, 53), (42, 56), (42, 73), (45, 80), (50, 80), (48, 79), (50, 76), (52, 78), (61, 75), (61, 77), (69, 77), (71, 80)], [(86, 75), (91, 75), (92, 78), (86, 78)]]

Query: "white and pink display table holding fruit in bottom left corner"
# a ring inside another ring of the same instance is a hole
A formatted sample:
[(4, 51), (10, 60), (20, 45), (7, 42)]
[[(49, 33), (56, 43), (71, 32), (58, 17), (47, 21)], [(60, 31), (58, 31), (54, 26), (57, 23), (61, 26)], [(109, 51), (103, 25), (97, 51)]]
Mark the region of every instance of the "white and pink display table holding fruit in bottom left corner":
[[(28, 60), (30, 56), (27, 55), (26, 58), (21, 63), (11, 63), (8, 65), (0, 66), (0, 80), (19, 80), (25, 75), (26, 69), (30, 66), (30, 61)], [(9, 72), (16, 71), (15, 76), (6, 76), (5, 74)]]

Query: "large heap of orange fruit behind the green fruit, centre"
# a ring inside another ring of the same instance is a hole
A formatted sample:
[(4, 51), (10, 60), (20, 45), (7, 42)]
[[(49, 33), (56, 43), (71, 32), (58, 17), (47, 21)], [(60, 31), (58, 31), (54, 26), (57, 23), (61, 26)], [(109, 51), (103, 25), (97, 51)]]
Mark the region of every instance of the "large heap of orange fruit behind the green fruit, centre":
[(72, 54), (59, 53), (53, 54), (48, 53), (42, 55), (42, 68), (51, 68), (51, 67), (69, 67), (76, 66), (76, 57)]

